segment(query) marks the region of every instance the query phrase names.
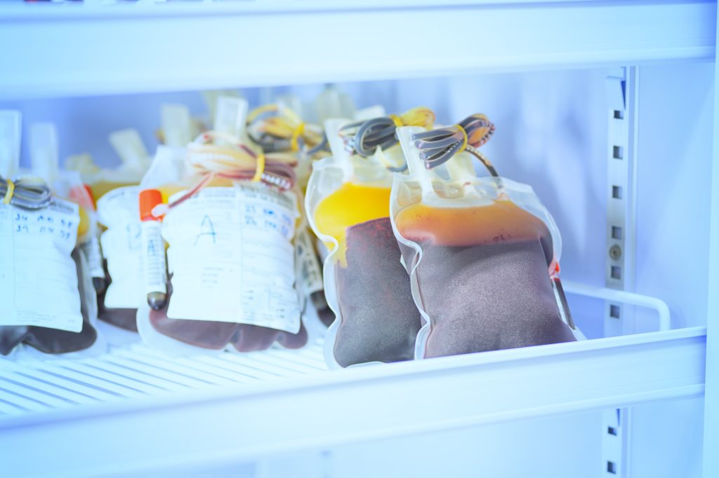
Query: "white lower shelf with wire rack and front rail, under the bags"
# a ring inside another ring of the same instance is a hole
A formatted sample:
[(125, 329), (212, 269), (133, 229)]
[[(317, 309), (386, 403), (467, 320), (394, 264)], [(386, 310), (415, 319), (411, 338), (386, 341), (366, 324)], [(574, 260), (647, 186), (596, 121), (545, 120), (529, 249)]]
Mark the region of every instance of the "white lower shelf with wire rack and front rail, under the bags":
[[(3, 459), (13, 476), (128, 476), (700, 397), (705, 344), (695, 327), (331, 371), (320, 341), (185, 359), (136, 344), (95, 359), (4, 362), (0, 449), (17, 451)], [(132, 440), (118, 449), (108, 433)]]

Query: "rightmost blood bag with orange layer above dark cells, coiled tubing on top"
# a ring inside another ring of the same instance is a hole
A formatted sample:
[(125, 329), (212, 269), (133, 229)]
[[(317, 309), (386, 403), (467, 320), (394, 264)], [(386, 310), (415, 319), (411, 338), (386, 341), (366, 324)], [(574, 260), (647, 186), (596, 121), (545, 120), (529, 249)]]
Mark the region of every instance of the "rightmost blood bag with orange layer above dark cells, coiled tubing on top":
[[(430, 136), (398, 130), (411, 174), (395, 177), (391, 207), (425, 322), (416, 357), (573, 341), (551, 280), (559, 268), (557, 226), (528, 185), (475, 176), (462, 149), (480, 141), (467, 125)], [(464, 139), (454, 145), (447, 139), (459, 128)], [(438, 137), (452, 144), (449, 154), (442, 144), (434, 148)], [(441, 164), (445, 177), (431, 169)]]

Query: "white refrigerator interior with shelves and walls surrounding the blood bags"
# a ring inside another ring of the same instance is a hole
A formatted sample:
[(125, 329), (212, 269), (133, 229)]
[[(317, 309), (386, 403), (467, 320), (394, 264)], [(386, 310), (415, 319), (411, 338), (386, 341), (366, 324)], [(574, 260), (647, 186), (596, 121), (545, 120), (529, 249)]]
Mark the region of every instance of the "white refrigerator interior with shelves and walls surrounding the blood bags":
[(219, 88), (485, 113), (587, 340), (326, 370), (317, 322), (301, 350), (3, 360), (0, 475), (719, 476), (714, 2), (94, 3), (0, 6), (0, 109), (55, 123), (61, 161), (113, 167), (130, 127), (152, 152), (162, 104)]

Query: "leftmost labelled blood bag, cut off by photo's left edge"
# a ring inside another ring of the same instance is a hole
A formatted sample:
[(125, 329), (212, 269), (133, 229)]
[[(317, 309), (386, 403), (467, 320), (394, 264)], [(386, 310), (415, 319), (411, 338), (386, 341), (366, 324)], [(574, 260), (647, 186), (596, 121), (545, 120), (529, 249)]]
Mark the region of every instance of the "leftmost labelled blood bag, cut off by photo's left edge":
[[(8, 130), (12, 134), (6, 135)], [(34, 135), (35, 174), (52, 179), (55, 191), (65, 197), (82, 188), (79, 177), (53, 169), (52, 142), (44, 134)], [(0, 112), (0, 143), (7, 141), (12, 143), (9, 151), (19, 151), (17, 112)], [(11, 258), (0, 268), (5, 306), (0, 354), (9, 355), (22, 344), (52, 354), (87, 349), (97, 339), (94, 291), (76, 245), (78, 235), (88, 233), (88, 214), (73, 202), (52, 197), (41, 179), (9, 179), (18, 162), (16, 154), (0, 157), (0, 250)]]

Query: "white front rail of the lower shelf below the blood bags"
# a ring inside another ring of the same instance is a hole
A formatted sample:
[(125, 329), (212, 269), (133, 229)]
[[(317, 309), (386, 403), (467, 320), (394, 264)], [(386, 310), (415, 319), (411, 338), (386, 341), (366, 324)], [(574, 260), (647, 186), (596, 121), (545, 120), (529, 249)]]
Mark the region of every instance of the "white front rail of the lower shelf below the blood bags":
[[(705, 338), (695, 327), (26, 414), (0, 421), (0, 449), (17, 451), (4, 457), (13, 476), (127, 476), (695, 398), (704, 393)], [(109, 433), (134, 438), (118, 444)]]

